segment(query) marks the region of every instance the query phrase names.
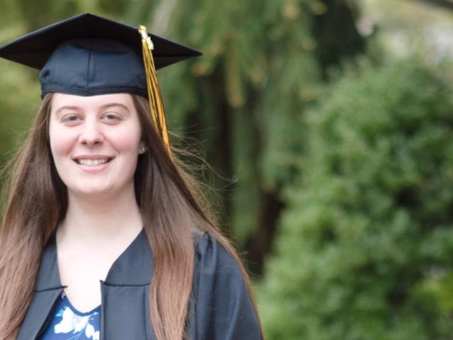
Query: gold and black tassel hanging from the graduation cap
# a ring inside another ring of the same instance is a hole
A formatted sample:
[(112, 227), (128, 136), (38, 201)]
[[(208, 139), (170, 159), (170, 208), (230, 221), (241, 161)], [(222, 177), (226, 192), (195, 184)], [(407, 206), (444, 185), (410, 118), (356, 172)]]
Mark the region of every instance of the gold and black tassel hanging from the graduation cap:
[(161, 91), (159, 90), (159, 83), (157, 81), (156, 67), (154, 65), (154, 58), (151, 52), (154, 50), (154, 45), (151, 38), (149, 38), (146, 27), (139, 26), (138, 30), (142, 36), (143, 62), (144, 69), (147, 72), (148, 98), (149, 106), (151, 107), (151, 117), (153, 118), (154, 125), (156, 125), (159, 135), (161, 135), (168, 155), (171, 157), (164, 103), (162, 102)]

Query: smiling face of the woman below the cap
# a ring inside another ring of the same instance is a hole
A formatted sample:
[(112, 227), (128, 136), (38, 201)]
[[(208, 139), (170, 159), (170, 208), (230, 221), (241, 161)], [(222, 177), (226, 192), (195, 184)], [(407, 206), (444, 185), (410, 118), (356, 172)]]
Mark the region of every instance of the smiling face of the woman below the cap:
[(141, 128), (130, 94), (54, 94), (49, 135), (69, 197), (134, 192)]

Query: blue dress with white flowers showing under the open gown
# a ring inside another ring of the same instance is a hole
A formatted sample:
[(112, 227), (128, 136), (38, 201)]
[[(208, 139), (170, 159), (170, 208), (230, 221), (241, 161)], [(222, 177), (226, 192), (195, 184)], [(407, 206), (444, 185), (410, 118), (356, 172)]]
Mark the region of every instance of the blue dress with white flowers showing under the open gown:
[(54, 313), (41, 340), (99, 340), (101, 306), (79, 312), (63, 293)]

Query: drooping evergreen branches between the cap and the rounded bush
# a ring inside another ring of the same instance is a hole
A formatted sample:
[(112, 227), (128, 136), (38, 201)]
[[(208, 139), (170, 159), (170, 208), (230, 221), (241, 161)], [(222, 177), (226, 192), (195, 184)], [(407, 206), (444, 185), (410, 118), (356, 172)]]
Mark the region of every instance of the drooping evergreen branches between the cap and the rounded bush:
[(204, 55), (159, 74), (168, 120), (206, 141), (241, 242), (260, 227), (263, 192), (280, 190), (301, 149), (300, 117), (319, 84), (309, 28), (316, 2), (177, 1), (170, 18), (168, 35)]

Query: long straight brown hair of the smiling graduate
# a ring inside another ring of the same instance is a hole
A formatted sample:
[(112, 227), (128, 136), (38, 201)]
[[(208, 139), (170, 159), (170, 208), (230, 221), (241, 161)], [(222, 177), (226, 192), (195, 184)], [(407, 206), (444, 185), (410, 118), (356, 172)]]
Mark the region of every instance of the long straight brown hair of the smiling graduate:
[[(185, 338), (185, 322), (195, 267), (195, 230), (208, 232), (234, 256), (234, 247), (207, 216), (197, 181), (168, 155), (149, 117), (149, 103), (133, 96), (142, 138), (149, 152), (139, 157), (134, 186), (144, 229), (154, 255), (149, 306), (158, 339)], [(42, 250), (67, 211), (67, 189), (57, 175), (49, 147), (52, 94), (16, 156), (6, 166), (4, 214), (0, 230), (0, 339), (15, 339), (33, 298)], [(178, 296), (178, 299), (174, 297)], [(256, 309), (256, 307), (255, 307)], [(258, 313), (257, 313), (258, 316)]]

